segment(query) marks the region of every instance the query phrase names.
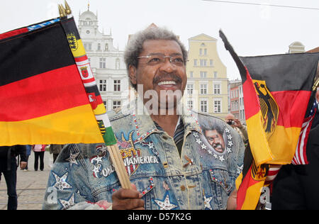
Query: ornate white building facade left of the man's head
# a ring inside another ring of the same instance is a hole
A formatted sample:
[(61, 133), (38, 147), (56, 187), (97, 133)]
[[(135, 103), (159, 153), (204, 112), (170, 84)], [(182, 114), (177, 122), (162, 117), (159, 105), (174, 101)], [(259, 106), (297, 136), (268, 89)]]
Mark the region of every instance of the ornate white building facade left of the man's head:
[(124, 51), (113, 46), (111, 31), (99, 30), (97, 13), (89, 9), (81, 13), (77, 26), (106, 110), (123, 106), (129, 85)]

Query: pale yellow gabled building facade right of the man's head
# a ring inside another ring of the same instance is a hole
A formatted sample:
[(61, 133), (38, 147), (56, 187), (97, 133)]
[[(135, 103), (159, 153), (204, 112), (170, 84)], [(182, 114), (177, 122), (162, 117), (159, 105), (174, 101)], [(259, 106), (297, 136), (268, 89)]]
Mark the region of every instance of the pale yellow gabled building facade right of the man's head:
[(224, 119), (228, 113), (228, 78), (215, 38), (203, 33), (189, 38), (186, 72), (184, 102), (187, 106)]

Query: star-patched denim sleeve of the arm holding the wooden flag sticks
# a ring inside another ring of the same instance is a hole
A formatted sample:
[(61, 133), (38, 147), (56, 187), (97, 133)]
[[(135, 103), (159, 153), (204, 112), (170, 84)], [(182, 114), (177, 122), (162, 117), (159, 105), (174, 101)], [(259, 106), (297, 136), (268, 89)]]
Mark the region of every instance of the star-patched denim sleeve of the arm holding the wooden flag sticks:
[(45, 191), (44, 210), (96, 210), (111, 208), (111, 203), (94, 202), (86, 159), (77, 145), (68, 145), (52, 167)]

